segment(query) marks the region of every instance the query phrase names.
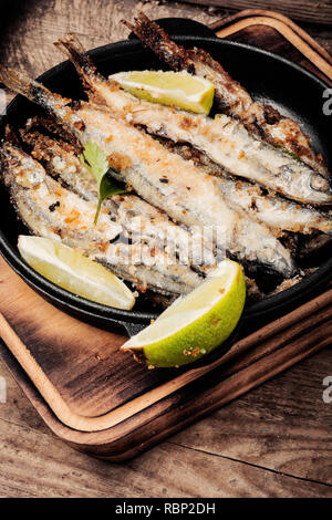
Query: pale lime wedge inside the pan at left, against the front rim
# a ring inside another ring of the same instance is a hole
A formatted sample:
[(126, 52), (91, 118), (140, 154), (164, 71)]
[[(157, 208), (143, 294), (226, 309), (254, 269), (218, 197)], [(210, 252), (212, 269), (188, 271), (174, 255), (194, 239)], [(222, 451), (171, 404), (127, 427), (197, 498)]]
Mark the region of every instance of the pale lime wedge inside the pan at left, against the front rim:
[(18, 248), (29, 266), (74, 294), (117, 309), (132, 309), (135, 298), (115, 274), (75, 249), (48, 238), (19, 236)]

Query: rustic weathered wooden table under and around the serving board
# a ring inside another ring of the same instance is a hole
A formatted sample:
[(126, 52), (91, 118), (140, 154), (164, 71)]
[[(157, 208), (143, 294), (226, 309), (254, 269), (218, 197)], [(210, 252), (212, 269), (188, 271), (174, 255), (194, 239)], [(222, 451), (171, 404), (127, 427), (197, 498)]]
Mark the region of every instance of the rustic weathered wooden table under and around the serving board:
[[(303, 3), (305, 3), (303, 1)], [(311, 2), (312, 3), (312, 2)], [(3, 12), (3, 6), (7, 6)], [(121, 18), (211, 23), (225, 11), (135, 0), (3, 0), (1, 62), (39, 75), (52, 42), (75, 31), (87, 48), (123, 39)], [(304, 25), (330, 52), (332, 31)], [(91, 459), (54, 438), (0, 362), (0, 497), (332, 497), (332, 347), (305, 360), (131, 462)]]

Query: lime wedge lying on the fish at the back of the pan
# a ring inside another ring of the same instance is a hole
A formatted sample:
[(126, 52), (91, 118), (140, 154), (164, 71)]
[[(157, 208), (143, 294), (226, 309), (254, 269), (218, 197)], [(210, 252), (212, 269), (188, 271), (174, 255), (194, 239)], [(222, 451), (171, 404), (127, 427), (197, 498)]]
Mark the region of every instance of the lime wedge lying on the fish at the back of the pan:
[(132, 71), (110, 76), (142, 100), (175, 105), (190, 112), (209, 114), (215, 85), (188, 72)]

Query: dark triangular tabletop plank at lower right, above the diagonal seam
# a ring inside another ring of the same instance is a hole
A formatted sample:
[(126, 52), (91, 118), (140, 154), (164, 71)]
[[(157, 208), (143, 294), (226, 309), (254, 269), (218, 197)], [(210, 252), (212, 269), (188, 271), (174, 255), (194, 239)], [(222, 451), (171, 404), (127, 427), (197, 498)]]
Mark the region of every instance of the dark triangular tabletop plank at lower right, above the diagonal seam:
[(332, 485), (331, 405), (322, 399), (331, 354), (330, 346), (172, 441)]

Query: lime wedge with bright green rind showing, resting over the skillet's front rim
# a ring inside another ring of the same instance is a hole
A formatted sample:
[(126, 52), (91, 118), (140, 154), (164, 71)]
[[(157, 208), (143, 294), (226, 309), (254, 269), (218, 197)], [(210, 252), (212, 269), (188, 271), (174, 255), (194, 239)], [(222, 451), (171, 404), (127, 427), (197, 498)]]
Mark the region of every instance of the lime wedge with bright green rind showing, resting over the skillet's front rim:
[(246, 300), (237, 262), (225, 260), (205, 282), (178, 298), (158, 319), (122, 346), (149, 366), (190, 363), (220, 345), (236, 327)]

